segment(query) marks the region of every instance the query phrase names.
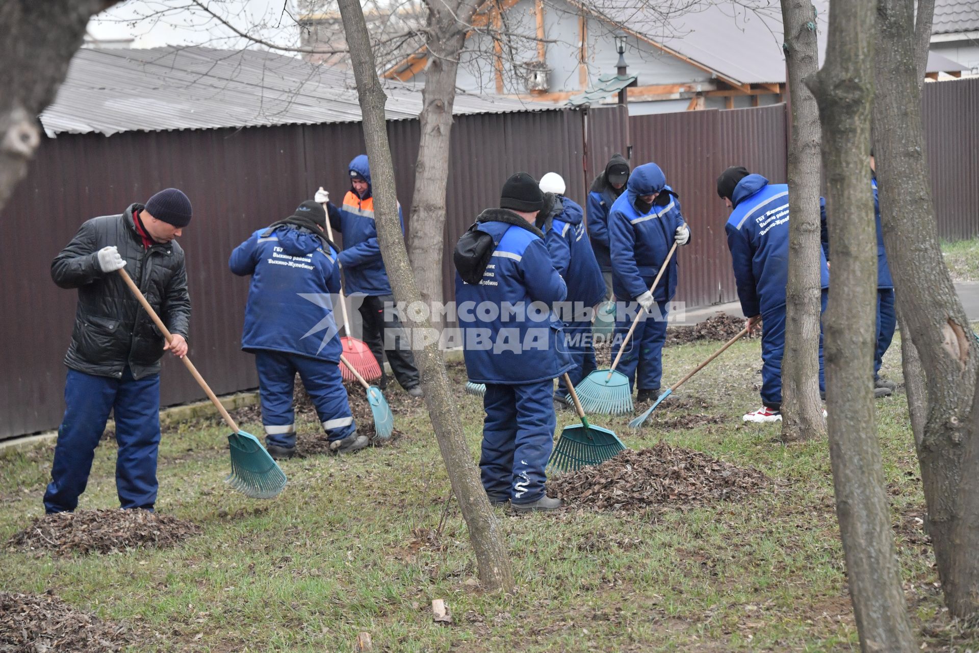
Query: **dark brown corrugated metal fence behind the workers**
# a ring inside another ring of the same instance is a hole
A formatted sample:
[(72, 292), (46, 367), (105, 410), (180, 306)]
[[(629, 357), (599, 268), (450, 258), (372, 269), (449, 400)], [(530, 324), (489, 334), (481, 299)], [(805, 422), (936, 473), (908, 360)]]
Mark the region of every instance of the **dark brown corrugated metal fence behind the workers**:
[[(979, 234), (979, 80), (925, 87), (928, 157), (940, 233)], [(627, 118), (622, 108), (457, 117), (452, 132), (446, 252), (473, 219), (496, 206), (506, 177), (561, 173), (567, 195), (584, 204), (587, 186), (615, 152), (659, 163), (679, 193), (693, 239), (680, 251), (677, 300), (736, 299), (715, 192), (724, 167), (743, 164), (785, 181), (785, 107)], [(418, 122), (389, 123), (398, 198), (407, 221)], [(587, 132), (587, 148), (585, 148)], [(227, 269), (231, 250), (256, 228), (288, 215), (322, 185), (335, 203), (349, 188), (347, 165), (364, 150), (358, 124), (286, 125), (208, 131), (130, 132), (46, 140), (27, 178), (0, 212), (0, 439), (56, 427), (63, 410), (74, 293), (58, 289), (49, 266), (87, 218), (144, 202), (166, 186), (184, 189), (194, 221), (187, 251), (192, 355), (218, 393), (257, 385), (252, 357), (239, 350), (248, 280)], [(410, 222), (406, 224), (410, 229)], [(446, 299), (451, 257), (443, 259)], [(163, 403), (201, 398), (190, 377), (166, 361)]]

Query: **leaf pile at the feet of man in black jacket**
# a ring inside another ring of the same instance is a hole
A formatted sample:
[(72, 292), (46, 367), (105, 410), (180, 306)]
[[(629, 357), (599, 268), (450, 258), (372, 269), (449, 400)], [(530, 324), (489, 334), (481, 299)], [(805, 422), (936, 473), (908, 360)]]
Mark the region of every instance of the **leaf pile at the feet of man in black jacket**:
[(79, 510), (38, 517), (7, 546), (38, 554), (115, 553), (138, 546), (167, 548), (201, 533), (193, 522), (148, 510)]

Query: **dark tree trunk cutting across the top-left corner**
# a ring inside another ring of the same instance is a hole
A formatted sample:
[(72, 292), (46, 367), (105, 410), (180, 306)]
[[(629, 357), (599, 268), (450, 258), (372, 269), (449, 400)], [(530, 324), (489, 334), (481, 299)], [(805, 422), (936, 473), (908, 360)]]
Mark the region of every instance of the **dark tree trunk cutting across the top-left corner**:
[(0, 209), (41, 143), (37, 116), (54, 100), (88, 20), (117, 0), (0, 3)]

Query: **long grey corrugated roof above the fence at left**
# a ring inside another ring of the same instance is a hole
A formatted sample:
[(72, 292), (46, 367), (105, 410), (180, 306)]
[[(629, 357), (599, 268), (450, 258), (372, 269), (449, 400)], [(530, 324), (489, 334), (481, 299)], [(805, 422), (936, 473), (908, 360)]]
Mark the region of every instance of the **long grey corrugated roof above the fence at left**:
[[(389, 120), (418, 117), (418, 89), (386, 82)], [(454, 114), (552, 111), (554, 105), (459, 94)], [(59, 133), (212, 129), (360, 121), (352, 72), (258, 50), (79, 50), (42, 114)]]

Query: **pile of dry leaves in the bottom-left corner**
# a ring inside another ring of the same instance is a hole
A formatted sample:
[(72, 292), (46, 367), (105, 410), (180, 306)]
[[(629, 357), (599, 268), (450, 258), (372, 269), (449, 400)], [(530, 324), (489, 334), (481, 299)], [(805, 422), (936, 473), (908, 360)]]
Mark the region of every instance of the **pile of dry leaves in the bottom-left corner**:
[(111, 653), (135, 638), (126, 627), (75, 610), (51, 594), (0, 591), (3, 653)]

